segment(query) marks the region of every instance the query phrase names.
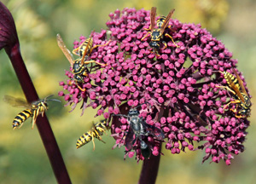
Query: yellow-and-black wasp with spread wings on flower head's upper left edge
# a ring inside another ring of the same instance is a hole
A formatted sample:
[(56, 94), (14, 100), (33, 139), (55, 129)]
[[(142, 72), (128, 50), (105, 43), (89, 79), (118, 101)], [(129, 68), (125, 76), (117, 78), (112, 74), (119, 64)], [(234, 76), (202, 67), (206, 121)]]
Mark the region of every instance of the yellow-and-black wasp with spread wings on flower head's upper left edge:
[[(93, 32), (92, 32), (93, 33)], [(108, 41), (109, 43), (110, 41)], [(63, 54), (66, 56), (67, 60), (69, 61), (70, 65), (72, 66), (72, 72), (74, 74), (73, 79), (76, 83), (84, 83), (84, 78), (86, 78), (89, 74), (89, 70), (87, 68), (87, 64), (89, 63), (96, 63), (101, 66), (106, 66), (105, 64), (99, 63), (96, 60), (86, 60), (88, 56), (90, 56), (93, 49), (96, 49), (96, 47), (104, 46), (104, 45), (96, 45), (92, 47), (93, 39), (92, 34), (88, 39), (82, 43), (79, 48), (73, 49), (73, 54), (79, 55), (80, 57), (77, 60), (73, 59), (73, 55), (67, 49), (65, 43), (63, 42), (61, 35), (57, 34), (57, 43), (63, 52)], [(86, 60), (86, 61), (85, 61)], [(81, 87), (78, 85), (79, 89), (82, 91), (85, 91), (85, 89), (81, 89)]]

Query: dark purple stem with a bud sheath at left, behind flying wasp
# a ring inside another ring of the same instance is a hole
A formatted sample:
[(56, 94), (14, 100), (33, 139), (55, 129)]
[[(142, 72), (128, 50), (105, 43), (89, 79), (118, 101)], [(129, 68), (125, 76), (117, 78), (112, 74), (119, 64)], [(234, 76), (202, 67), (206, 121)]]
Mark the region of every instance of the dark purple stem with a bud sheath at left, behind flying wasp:
[[(20, 55), (20, 43), (15, 29), (12, 15), (3, 3), (0, 2), (0, 49), (5, 49), (14, 66), (21, 88), (28, 102), (37, 101), (38, 94), (32, 80), (26, 70), (25, 63)], [(55, 173), (58, 183), (71, 183), (67, 168), (61, 156), (61, 151), (55, 141), (55, 135), (50, 128), (49, 121), (44, 116), (37, 118), (38, 131), (48, 154), (50, 164)]]

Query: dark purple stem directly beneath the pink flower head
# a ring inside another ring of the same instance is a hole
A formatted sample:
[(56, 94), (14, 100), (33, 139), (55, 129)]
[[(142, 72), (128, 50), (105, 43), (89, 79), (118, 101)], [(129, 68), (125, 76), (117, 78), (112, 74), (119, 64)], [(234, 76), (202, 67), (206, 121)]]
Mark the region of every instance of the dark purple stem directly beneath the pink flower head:
[[(161, 145), (160, 145), (161, 151)], [(156, 181), (158, 169), (160, 164), (160, 154), (158, 156), (151, 156), (150, 159), (143, 161), (143, 168), (138, 184), (154, 184)]]

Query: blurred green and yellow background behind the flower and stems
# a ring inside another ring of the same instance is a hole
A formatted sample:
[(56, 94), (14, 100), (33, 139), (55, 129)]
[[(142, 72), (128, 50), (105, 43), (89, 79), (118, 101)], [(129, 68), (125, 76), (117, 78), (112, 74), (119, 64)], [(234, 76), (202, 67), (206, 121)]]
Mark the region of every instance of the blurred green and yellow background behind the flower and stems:
[[(67, 48), (73, 47), (74, 39), (88, 36), (95, 29), (106, 29), (108, 14), (125, 7), (151, 9), (166, 15), (175, 8), (173, 18), (182, 22), (201, 23), (203, 28), (222, 40), (238, 59), (238, 68), (243, 72), (250, 94), (256, 95), (256, 2), (254, 0), (11, 0), (3, 1), (14, 16), (20, 37), (23, 59), (38, 90), (38, 95), (57, 95), (59, 82), (66, 80), (64, 70), (69, 63), (58, 48), (55, 36), (61, 33)], [(4, 50), (0, 52), (0, 99), (3, 95), (24, 98), (15, 72)], [(57, 97), (58, 98), (58, 97)], [(62, 99), (61, 99), (62, 100)], [(252, 99), (255, 104), (255, 98)], [(134, 158), (123, 160), (124, 148), (114, 149), (114, 141), (108, 135), (107, 144), (96, 141), (76, 149), (75, 143), (85, 130), (90, 129), (93, 110), (86, 110), (80, 117), (77, 108), (50, 102), (47, 112), (55, 138), (73, 183), (137, 183), (142, 162)], [(56, 183), (37, 129), (31, 129), (27, 120), (21, 129), (12, 129), (12, 120), (22, 109), (8, 104), (0, 106), (0, 183)], [(201, 164), (204, 152), (186, 152), (172, 155), (164, 150), (156, 183), (255, 183), (256, 147), (255, 105), (252, 107), (251, 126), (247, 129), (246, 150), (232, 160), (230, 166)]]

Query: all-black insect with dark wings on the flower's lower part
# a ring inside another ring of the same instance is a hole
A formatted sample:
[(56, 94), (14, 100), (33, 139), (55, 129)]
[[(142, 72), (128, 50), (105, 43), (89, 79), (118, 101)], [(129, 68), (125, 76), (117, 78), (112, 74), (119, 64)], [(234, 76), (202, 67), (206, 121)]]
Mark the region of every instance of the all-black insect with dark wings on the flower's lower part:
[[(139, 107), (139, 106), (137, 106)], [(140, 141), (140, 147), (144, 158), (149, 158), (151, 151), (148, 144), (143, 141), (143, 136), (152, 135), (157, 140), (163, 140), (165, 138), (161, 129), (149, 125), (145, 122), (145, 119), (139, 117), (139, 111), (137, 107), (131, 108), (127, 115), (115, 114), (114, 116), (125, 117), (130, 125), (127, 135), (125, 136), (125, 147), (131, 150), (137, 139)]]

